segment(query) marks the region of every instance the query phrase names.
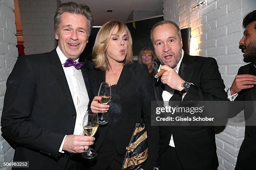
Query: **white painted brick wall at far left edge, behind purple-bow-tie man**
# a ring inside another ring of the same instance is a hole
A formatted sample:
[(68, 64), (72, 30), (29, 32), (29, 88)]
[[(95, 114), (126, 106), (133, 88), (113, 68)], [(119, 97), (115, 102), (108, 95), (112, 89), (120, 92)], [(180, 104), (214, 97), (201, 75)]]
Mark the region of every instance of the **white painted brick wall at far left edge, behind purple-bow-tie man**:
[[(18, 57), (13, 9), (13, 0), (0, 0), (0, 116), (2, 116), (6, 80)], [(11, 167), (4, 167), (3, 163), (11, 162), (13, 154), (13, 148), (6, 142), (0, 132), (0, 170), (11, 169)]]

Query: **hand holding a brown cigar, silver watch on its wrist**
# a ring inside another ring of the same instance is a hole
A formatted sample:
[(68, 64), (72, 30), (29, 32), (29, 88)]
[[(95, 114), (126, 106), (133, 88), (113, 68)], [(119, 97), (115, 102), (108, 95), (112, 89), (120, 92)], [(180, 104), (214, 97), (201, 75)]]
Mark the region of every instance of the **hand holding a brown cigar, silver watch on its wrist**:
[(166, 70), (164, 74), (161, 77), (161, 82), (163, 84), (169, 85), (174, 90), (182, 90), (182, 83), (185, 82), (178, 74), (177, 72), (169, 67), (168, 65), (162, 65), (161, 69)]

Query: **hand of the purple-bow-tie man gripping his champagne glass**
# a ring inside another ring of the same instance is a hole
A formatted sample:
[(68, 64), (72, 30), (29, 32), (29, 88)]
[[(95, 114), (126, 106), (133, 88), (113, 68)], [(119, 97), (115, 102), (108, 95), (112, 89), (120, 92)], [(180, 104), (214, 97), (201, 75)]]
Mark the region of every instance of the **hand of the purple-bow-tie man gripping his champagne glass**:
[(95, 138), (82, 135), (67, 135), (62, 150), (69, 153), (83, 153), (93, 144)]

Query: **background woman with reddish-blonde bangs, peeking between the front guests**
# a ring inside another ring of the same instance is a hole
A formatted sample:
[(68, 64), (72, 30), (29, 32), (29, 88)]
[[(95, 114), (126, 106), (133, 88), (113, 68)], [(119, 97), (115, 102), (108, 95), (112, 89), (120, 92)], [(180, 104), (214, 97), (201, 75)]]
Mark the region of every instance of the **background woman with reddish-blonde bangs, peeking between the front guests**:
[(141, 49), (140, 54), (138, 56), (138, 63), (146, 64), (148, 66), (148, 72), (151, 73), (154, 70), (154, 68), (150, 63), (154, 62), (155, 59), (156, 57), (154, 55), (154, 52), (150, 48), (144, 47)]

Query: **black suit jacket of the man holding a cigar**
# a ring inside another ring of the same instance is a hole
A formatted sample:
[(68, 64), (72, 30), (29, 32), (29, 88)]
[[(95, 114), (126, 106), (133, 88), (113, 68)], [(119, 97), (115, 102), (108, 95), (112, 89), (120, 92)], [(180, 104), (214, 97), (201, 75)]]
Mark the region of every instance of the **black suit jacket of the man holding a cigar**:
[[(192, 82), (183, 101), (227, 100), (225, 85), (215, 59), (184, 53), (179, 75)], [(162, 83), (153, 78), (156, 100), (162, 101)], [(212, 126), (160, 126), (160, 154), (169, 146), (173, 135), (175, 149), (184, 170), (216, 170), (215, 132)], [(172, 163), (170, 163), (170, 168)], [(160, 165), (161, 167), (161, 165)]]

